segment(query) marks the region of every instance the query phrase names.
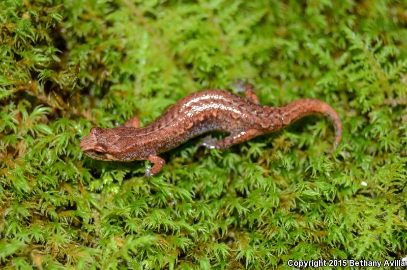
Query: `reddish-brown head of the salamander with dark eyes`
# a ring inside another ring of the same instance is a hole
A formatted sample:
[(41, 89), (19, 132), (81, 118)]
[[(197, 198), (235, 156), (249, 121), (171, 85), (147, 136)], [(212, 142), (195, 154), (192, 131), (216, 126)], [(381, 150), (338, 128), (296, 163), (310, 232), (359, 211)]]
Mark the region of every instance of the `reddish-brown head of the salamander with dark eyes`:
[(129, 128), (119, 127), (112, 129), (92, 128), (91, 134), (80, 142), (82, 152), (93, 159), (110, 161), (136, 160), (137, 153), (129, 152), (128, 143), (123, 138)]

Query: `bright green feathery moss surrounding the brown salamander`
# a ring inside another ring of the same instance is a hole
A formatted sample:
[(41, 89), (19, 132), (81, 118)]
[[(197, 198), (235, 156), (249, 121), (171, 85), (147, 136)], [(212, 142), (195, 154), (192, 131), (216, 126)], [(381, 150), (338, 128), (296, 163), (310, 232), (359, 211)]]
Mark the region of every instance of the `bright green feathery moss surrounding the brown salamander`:
[[(407, 253), (407, 2), (0, 1), (0, 266), (290, 268)], [(199, 138), (145, 162), (78, 147), (181, 97), (255, 85), (318, 98), (309, 116), (226, 151)]]

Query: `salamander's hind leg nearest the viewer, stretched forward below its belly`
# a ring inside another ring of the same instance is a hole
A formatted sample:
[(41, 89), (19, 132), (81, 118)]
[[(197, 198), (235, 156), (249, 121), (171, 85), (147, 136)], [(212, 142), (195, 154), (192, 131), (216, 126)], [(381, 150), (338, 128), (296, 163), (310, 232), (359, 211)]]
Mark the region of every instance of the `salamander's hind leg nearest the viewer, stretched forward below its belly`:
[(206, 137), (200, 145), (205, 146), (208, 149), (225, 149), (231, 145), (247, 141), (261, 134), (262, 133), (256, 129), (249, 129), (232, 133), (221, 140)]

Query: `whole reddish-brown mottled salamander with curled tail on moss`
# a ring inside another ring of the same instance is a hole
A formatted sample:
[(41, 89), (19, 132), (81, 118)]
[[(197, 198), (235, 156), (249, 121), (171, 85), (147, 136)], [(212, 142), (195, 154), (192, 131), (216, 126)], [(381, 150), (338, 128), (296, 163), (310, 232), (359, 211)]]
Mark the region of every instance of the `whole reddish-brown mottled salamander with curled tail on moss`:
[(259, 105), (250, 84), (245, 85), (246, 98), (220, 90), (192, 93), (172, 105), (146, 127), (139, 127), (137, 116), (124, 127), (93, 128), (80, 142), (81, 150), (99, 160), (149, 160), (148, 177), (158, 173), (165, 161), (157, 155), (192, 137), (209, 131), (224, 131), (229, 136), (217, 140), (206, 138), (201, 145), (224, 149), (261, 134), (284, 128), (309, 114), (325, 114), (334, 124), (337, 147), (342, 125), (336, 111), (323, 101), (301, 99), (283, 107)]

